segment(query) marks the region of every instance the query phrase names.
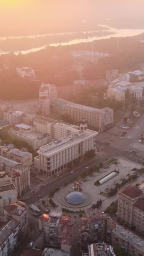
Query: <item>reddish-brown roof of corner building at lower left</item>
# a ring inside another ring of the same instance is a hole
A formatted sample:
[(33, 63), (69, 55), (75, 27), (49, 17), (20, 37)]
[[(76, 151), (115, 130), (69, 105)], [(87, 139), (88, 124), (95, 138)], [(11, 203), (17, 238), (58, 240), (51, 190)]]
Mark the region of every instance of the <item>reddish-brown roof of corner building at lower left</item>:
[(5, 205), (5, 206), (3, 206), (3, 208), (5, 211), (7, 211), (7, 213), (13, 214), (16, 216), (21, 216), (21, 214), (27, 210), (27, 207), (25, 205), (19, 205), (18, 203)]

